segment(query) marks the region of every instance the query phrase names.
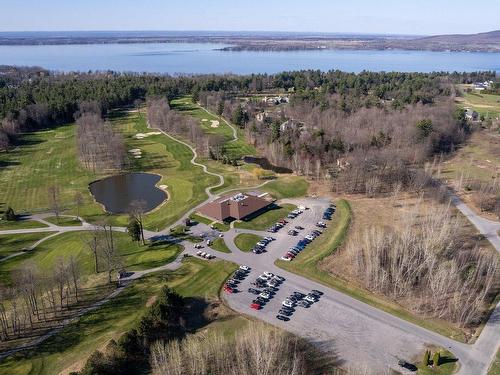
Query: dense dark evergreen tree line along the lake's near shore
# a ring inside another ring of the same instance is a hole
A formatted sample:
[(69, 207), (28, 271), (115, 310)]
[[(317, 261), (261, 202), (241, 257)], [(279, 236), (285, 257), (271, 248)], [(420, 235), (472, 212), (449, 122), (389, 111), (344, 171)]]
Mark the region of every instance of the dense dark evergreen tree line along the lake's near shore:
[[(116, 72), (52, 73), (41, 68), (0, 67), (0, 145), (16, 127), (32, 130), (70, 122), (78, 105), (97, 102), (105, 112), (150, 96), (172, 99), (182, 94), (198, 98), (202, 91), (232, 93), (294, 90), (297, 100), (323, 102), (326, 94), (395, 99), (398, 105), (432, 102), (446, 94), (441, 81), (491, 79), (492, 73), (344, 73), (297, 71), (258, 74), (168, 75)], [(322, 96), (323, 95), (323, 96)], [(395, 104), (396, 105), (396, 104)], [(11, 124), (14, 123), (14, 126)], [(4, 139), (2, 141), (2, 139)]]

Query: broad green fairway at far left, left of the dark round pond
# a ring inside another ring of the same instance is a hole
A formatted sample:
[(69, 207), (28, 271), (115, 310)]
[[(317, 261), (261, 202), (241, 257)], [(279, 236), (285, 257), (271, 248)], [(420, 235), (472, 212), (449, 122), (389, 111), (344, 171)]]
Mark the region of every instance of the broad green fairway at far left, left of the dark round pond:
[(47, 189), (56, 185), (63, 207), (71, 206), (74, 194), (80, 192), (86, 197), (87, 211), (100, 210), (87, 189), (98, 176), (80, 165), (75, 130), (71, 124), (27, 133), (21, 136), (21, 146), (0, 153), (0, 202), (16, 213), (46, 210)]

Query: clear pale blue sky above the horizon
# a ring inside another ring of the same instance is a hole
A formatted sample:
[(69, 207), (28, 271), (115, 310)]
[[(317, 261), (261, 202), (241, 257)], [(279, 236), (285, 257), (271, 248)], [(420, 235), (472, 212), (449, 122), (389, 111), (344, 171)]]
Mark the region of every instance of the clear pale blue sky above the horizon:
[(0, 0), (0, 31), (435, 35), (500, 29), (500, 0)]

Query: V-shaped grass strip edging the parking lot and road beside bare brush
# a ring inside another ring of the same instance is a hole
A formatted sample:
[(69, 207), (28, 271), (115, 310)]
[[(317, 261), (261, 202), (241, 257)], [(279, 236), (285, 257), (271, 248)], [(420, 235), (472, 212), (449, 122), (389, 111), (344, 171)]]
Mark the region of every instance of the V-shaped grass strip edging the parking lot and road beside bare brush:
[(364, 303), (375, 306), (401, 319), (405, 319), (424, 328), (438, 332), (455, 340), (464, 341), (463, 332), (444, 321), (422, 319), (397, 305), (371, 292), (346, 282), (335, 275), (321, 270), (319, 263), (335, 252), (343, 243), (351, 221), (351, 207), (346, 200), (337, 202), (337, 211), (323, 235), (317, 238), (292, 262), (277, 260), (276, 265), (290, 272), (315, 280), (342, 293), (350, 295)]

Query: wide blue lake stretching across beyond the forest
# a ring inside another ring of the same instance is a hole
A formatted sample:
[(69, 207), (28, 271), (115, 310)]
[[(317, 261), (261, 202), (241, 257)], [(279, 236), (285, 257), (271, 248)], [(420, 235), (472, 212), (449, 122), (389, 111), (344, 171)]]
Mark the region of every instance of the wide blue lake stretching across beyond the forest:
[(0, 46), (0, 65), (57, 71), (114, 70), (168, 74), (277, 73), (300, 69), (478, 71), (500, 73), (500, 53), (430, 51), (229, 52), (221, 44), (142, 43)]

